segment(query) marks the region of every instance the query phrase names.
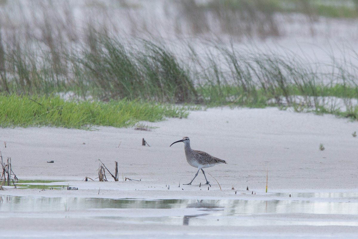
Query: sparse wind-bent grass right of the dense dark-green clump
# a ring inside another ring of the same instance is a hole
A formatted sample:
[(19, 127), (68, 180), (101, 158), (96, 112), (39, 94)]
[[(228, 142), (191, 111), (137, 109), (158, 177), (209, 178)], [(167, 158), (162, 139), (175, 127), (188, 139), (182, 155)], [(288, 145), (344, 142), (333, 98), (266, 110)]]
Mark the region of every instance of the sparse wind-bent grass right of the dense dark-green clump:
[(257, 49), (238, 51), (221, 42), (212, 42), (212, 47), (218, 56), (204, 56), (212, 67), (190, 48), (197, 67), (194, 77), (200, 79), (198, 93), (207, 105), (278, 105), (319, 114), (357, 115), (358, 69), (348, 59), (338, 62), (331, 56), (330, 73), (320, 71), (328, 66), (325, 63), (308, 64), (290, 51), (284, 56)]

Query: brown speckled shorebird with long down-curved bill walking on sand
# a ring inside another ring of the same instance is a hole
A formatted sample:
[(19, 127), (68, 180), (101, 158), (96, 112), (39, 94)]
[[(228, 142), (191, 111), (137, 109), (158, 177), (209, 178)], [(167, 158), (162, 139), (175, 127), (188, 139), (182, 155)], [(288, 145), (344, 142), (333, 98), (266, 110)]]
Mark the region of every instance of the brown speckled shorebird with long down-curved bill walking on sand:
[(185, 157), (187, 158), (187, 161), (190, 164), (190, 166), (198, 168), (198, 172), (195, 174), (193, 180), (190, 183), (184, 184), (184, 185), (191, 185), (192, 182), (194, 181), (195, 177), (198, 176), (198, 173), (199, 173), (200, 169), (204, 174), (204, 177), (205, 177), (205, 180), (206, 180), (205, 184), (210, 185), (209, 181), (207, 180), (207, 178), (205, 176), (203, 168), (213, 167), (213, 166), (215, 166), (216, 164), (219, 164), (219, 163), (226, 163), (226, 161), (222, 160), (222, 159), (219, 159), (219, 158), (216, 158), (214, 156), (211, 156), (210, 154), (205, 153), (203, 151), (194, 150), (194, 149), (190, 148), (190, 139), (188, 137), (183, 137), (183, 139), (178, 140), (178, 141), (170, 144), (170, 146), (175, 144), (175, 143), (179, 143), (179, 142), (184, 143)]

